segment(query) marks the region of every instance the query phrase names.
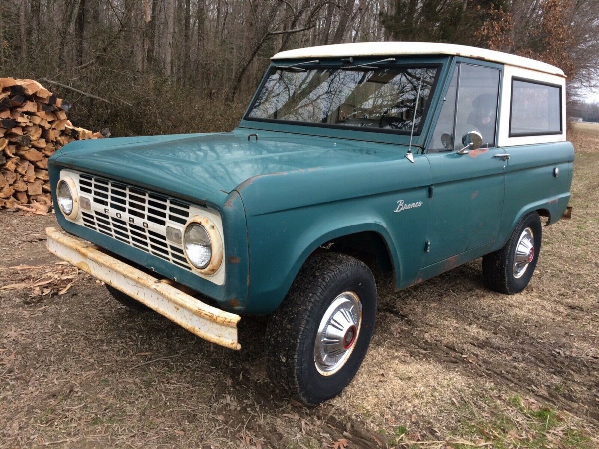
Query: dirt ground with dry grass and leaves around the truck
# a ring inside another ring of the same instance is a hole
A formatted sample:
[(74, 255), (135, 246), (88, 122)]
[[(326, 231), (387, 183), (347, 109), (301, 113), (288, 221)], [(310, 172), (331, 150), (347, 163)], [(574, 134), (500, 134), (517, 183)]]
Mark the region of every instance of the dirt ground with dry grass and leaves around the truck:
[(241, 351), (123, 308), (45, 249), (53, 216), (0, 212), (1, 447), (599, 447), (599, 126), (577, 125), (573, 218), (543, 229), (527, 289), (480, 260), (395, 293), (317, 408), (271, 392), (264, 323)]

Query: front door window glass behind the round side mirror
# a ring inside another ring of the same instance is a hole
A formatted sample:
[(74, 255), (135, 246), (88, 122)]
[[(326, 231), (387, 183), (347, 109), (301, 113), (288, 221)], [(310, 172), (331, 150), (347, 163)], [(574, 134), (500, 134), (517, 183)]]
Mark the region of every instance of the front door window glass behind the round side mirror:
[(462, 136), (478, 131), (483, 146), (495, 146), (500, 71), (460, 63), (453, 72), (429, 150), (456, 151)]

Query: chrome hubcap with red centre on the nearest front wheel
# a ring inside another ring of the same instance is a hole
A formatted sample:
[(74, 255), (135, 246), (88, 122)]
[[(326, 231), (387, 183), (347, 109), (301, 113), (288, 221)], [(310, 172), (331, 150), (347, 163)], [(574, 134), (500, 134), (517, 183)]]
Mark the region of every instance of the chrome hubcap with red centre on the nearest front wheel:
[(326, 309), (314, 344), (314, 363), (324, 376), (335, 374), (349, 359), (362, 325), (362, 304), (358, 295), (343, 292)]

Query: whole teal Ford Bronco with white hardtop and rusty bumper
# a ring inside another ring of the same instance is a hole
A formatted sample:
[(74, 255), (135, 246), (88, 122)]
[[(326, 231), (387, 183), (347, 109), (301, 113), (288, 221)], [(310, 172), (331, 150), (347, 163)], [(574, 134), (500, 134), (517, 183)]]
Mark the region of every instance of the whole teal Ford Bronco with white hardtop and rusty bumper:
[(283, 51), (232, 132), (57, 151), (66, 233), (49, 228), (49, 250), (128, 307), (232, 349), (242, 315), (269, 314), (271, 380), (319, 404), (352, 380), (373, 335), (365, 261), (397, 290), (477, 257), (490, 289), (527, 286), (540, 217), (569, 212), (564, 81), (459, 45)]

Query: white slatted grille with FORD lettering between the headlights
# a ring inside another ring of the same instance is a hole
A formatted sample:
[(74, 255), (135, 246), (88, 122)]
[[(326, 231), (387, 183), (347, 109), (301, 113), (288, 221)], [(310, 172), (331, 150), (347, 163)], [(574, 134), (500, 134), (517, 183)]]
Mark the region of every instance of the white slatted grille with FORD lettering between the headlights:
[(189, 204), (96, 175), (79, 174), (81, 196), (91, 201), (81, 208), (82, 225), (192, 271), (182, 242), (167, 240), (167, 227), (179, 230), (192, 212)]

